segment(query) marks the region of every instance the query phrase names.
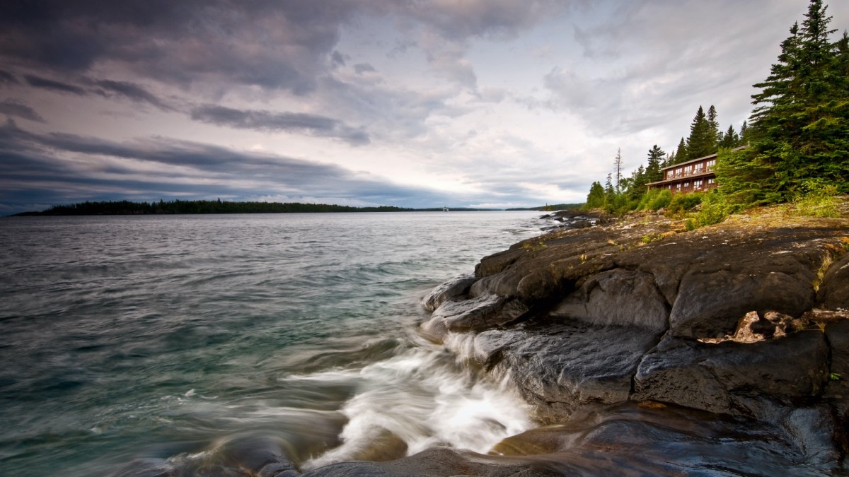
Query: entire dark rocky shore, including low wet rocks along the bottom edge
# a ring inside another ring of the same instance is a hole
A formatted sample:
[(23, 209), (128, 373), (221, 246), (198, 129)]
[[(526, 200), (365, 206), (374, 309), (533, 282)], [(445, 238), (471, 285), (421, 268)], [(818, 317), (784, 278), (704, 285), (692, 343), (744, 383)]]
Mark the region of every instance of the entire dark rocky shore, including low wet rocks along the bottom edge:
[(282, 443), (233, 446), (263, 476), (849, 474), (841, 208), (689, 231), (664, 216), (548, 216), (550, 232), (441, 284), (421, 333), (509, 379), (539, 423), (486, 455), (437, 447), (301, 474)]

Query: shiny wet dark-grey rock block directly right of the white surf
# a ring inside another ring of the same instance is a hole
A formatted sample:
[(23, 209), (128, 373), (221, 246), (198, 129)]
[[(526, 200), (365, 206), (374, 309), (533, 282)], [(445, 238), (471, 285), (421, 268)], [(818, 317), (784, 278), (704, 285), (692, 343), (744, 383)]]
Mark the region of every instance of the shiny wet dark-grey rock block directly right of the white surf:
[(529, 323), (477, 335), (474, 355), (493, 372), (509, 373), (537, 418), (554, 422), (588, 402), (626, 401), (640, 360), (657, 340), (645, 328)]

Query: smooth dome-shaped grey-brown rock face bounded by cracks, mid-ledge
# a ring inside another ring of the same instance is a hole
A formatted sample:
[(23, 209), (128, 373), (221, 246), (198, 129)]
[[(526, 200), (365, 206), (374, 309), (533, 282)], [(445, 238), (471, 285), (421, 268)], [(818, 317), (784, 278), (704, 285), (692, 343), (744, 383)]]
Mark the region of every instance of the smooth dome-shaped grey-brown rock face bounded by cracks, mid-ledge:
[(552, 315), (599, 325), (639, 326), (661, 333), (668, 328), (669, 308), (651, 275), (617, 269), (588, 278)]

